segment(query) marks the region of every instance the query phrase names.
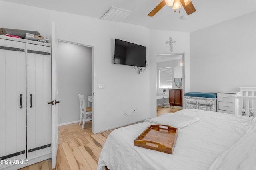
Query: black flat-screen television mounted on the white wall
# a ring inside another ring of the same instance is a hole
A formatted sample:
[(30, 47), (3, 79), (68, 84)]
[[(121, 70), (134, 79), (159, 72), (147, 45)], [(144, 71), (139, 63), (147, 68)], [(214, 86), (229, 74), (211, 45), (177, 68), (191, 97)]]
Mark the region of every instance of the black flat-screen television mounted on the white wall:
[(114, 64), (145, 67), (146, 49), (142, 45), (116, 39)]

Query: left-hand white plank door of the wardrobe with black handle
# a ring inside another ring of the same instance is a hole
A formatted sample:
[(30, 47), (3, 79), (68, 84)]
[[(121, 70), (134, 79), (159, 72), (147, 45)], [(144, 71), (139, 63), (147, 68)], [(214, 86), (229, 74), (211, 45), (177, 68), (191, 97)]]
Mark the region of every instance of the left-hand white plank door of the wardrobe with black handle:
[(25, 48), (0, 39), (0, 160), (11, 163), (26, 159)]

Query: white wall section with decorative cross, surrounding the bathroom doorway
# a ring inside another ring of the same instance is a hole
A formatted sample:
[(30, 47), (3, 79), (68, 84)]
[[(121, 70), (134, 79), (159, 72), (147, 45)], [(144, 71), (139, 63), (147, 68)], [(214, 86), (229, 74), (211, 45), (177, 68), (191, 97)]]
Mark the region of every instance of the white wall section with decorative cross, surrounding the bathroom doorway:
[[(172, 37), (176, 43), (173, 51), (170, 51), (169, 41)], [(183, 93), (190, 91), (190, 33), (150, 30), (150, 117), (156, 117), (156, 94), (157, 94), (157, 74), (156, 56), (157, 54), (184, 54), (183, 56)], [(183, 102), (184, 103), (184, 102)]]

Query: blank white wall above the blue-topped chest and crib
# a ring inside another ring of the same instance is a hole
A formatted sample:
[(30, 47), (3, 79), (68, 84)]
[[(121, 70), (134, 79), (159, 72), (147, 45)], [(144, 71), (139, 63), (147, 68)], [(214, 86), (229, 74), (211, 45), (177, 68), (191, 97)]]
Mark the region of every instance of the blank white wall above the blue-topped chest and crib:
[(256, 86), (256, 12), (191, 33), (192, 91)]

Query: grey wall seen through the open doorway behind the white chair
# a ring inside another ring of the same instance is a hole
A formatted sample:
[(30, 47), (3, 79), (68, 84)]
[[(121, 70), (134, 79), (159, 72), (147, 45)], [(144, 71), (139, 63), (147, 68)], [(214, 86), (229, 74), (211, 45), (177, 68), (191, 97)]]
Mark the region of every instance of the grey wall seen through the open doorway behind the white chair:
[(92, 48), (58, 42), (58, 84), (60, 124), (80, 119), (78, 94), (92, 95)]

